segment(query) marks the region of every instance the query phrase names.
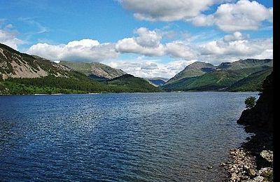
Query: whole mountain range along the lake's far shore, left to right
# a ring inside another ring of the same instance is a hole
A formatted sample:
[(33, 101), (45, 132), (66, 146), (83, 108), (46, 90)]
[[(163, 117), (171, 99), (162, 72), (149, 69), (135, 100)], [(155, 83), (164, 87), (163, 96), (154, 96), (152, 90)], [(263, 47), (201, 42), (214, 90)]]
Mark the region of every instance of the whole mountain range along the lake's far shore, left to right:
[(169, 80), (137, 78), (97, 62), (57, 64), (0, 43), (0, 94), (257, 91), (272, 70), (273, 59), (241, 59), (195, 62)]

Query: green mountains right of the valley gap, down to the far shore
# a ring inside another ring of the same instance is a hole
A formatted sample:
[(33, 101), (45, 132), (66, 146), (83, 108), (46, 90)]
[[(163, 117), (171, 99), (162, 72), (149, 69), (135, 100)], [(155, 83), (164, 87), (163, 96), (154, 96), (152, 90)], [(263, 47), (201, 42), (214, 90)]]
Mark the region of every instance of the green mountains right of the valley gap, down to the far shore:
[(218, 66), (195, 62), (162, 85), (165, 91), (257, 91), (273, 59), (241, 59)]

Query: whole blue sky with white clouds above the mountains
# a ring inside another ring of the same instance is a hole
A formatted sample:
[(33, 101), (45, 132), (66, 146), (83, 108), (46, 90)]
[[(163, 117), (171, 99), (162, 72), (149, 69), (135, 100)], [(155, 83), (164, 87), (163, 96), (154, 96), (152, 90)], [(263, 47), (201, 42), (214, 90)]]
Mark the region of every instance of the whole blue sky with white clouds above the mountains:
[(54, 62), (172, 78), (189, 64), (273, 57), (272, 0), (0, 0), (0, 42)]

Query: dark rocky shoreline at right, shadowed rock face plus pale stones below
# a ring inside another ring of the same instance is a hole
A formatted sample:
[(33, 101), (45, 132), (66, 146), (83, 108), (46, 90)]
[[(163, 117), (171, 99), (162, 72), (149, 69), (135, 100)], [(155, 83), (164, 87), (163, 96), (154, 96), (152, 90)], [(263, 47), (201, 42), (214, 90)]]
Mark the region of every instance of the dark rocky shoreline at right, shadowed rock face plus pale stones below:
[(273, 72), (255, 106), (244, 110), (237, 123), (255, 135), (230, 151), (230, 162), (221, 164), (228, 172), (226, 181), (273, 181)]

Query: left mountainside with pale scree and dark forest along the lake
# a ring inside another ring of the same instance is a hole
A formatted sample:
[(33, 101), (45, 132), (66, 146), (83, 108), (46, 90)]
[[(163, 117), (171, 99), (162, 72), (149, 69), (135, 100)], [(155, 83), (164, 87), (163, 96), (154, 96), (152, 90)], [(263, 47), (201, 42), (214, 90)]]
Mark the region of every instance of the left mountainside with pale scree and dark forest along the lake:
[(127, 78), (128, 83), (121, 80), (116, 85), (101, 83), (62, 64), (0, 44), (0, 94), (159, 91), (141, 78)]

